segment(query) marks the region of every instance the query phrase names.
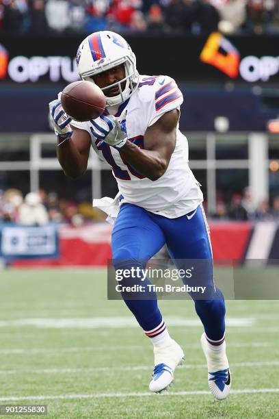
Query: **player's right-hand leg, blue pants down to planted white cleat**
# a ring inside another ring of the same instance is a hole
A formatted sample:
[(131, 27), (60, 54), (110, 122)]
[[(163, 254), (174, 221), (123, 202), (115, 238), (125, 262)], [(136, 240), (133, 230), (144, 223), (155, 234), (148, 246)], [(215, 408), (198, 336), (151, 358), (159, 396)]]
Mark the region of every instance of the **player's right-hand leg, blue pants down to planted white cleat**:
[[(174, 220), (164, 220), (163, 232), (171, 256), (174, 259), (203, 259), (203, 280), (207, 280), (209, 294), (213, 299), (198, 299), (194, 294), (196, 312), (204, 326), (201, 342), (207, 358), (209, 371), (209, 388), (216, 398), (226, 398), (230, 391), (230, 371), (226, 357), (225, 343), (225, 303), (222, 292), (215, 290), (213, 283), (212, 251), (209, 228), (202, 207), (190, 219), (187, 216)], [(189, 216), (189, 214), (187, 214)], [(198, 262), (199, 264), (200, 262)], [(205, 274), (205, 275), (204, 275)]]

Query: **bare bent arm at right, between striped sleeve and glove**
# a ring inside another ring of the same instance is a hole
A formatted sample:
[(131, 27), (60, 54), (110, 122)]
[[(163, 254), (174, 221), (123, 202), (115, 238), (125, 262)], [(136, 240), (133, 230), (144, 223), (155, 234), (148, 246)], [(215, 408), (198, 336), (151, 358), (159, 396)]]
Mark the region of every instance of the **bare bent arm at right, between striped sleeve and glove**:
[(119, 149), (124, 159), (139, 173), (155, 181), (167, 170), (176, 144), (177, 109), (165, 112), (156, 123), (146, 129), (144, 149), (131, 141)]

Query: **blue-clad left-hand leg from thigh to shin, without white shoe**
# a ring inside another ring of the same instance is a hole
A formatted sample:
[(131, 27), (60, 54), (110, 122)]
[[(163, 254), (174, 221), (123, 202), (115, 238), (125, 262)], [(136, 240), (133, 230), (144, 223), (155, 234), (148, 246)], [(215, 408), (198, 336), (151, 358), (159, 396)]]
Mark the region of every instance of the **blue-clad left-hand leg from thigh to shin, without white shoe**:
[[(159, 325), (163, 325), (163, 320), (157, 305), (157, 296), (149, 290), (148, 285), (151, 283), (148, 278), (142, 277), (142, 269), (145, 268), (148, 259), (161, 249), (164, 242), (161, 229), (149, 220), (144, 209), (130, 204), (122, 205), (111, 236), (113, 262), (118, 270), (137, 267), (140, 270), (140, 274), (135, 278), (131, 276), (122, 279), (121, 285), (124, 287), (138, 284), (145, 287), (144, 293), (131, 294), (130, 300), (125, 298), (129, 296), (128, 293), (122, 293), (125, 303), (144, 331), (163, 329), (159, 328)], [(137, 296), (138, 300), (135, 299)]]

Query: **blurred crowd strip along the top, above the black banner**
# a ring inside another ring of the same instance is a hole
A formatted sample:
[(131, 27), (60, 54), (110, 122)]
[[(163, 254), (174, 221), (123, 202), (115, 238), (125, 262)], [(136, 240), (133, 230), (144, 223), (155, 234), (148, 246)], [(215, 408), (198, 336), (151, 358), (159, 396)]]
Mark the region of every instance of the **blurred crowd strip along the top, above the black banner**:
[(0, 0), (0, 33), (279, 33), (278, 0)]

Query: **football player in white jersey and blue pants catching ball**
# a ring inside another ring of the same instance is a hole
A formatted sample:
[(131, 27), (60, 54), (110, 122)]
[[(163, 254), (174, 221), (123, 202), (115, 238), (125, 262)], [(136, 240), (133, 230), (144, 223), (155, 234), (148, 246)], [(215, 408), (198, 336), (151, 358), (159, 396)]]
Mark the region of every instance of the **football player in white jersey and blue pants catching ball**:
[[(116, 218), (111, 239), (116, 268), (143, 268), (164, 244), (174, 260), (210, 261), (206, 285), (213, 298), (191, 297), (204, 326), (201, 343), (209, 388), (215, 398), (226, 398), (230, 392), (226, 309), (222, 292), (213, 284), (202, 192), (188, 165), (187, 138), (178, 129), (183, 95), (171, 77), (139, 75), (131, 47), (111, 31), (85, 38), (77, 65), (81, 79), (103, 90), (107, 107), (99, 118), (79, 123), (66, 115), (59, 99), (50, 103), (59, 163), (66, 175), (79, 177), (93, 147), (111, 166), (119, 194), (96, 204), (110, 219)], [(150, 284), (148, 278), (139, 281)], [(184, 359), (183, 349), (170, 338), (154, 292), (146, 291), (143, 299), (124, 296), (124, 301), (154, 345), (149, 388), (161, 392), (172, 383), (174, 370)]]

